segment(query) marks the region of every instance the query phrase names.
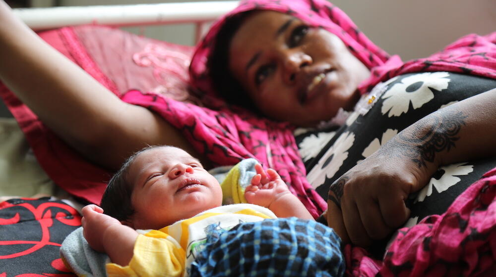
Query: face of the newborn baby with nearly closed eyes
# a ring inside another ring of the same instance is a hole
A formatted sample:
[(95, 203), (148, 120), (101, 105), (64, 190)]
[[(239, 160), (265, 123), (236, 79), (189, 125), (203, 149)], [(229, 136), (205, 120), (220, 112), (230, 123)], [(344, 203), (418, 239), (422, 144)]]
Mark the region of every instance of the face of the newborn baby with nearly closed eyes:
[(161, 229), (222, 204), (222, 189), (186, 151), (170, 146), (139, 154), (129, 168), (134, 229)]

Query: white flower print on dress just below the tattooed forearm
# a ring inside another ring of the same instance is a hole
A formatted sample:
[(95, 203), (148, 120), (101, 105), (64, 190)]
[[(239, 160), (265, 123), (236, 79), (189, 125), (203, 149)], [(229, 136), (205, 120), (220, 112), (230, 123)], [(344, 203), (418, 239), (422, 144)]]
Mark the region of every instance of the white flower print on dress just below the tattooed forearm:
[(427, 196), (431, 196), (433, 193), (433, 186), (437, 192), (443, 192), (444, 190), (450, 188), (452, 185), (460, 182), (460, 178), (456, 177), (459, 175), (467, 175), (474, 171), (473, 165), (465, 165), (467, 163), (456, 163), (447, 166), (442, 166), (437, 170), (437, 173), (442, 173), (439, 179), (431, 178), (429, 185), (426, 185), (422, 190), (419, 191), (417, 196), (417, 201), (422, 202)]

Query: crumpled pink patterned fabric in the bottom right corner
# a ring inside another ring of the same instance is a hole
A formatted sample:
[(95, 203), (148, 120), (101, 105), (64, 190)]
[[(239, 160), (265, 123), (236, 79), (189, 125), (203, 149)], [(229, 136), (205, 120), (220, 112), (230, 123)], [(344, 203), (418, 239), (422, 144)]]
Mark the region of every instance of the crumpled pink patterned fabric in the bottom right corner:
[(495, 276), (496, 168), (471, 185), (442, 215), (398, 231), (383, 261), (345, 247), (347, 276)]

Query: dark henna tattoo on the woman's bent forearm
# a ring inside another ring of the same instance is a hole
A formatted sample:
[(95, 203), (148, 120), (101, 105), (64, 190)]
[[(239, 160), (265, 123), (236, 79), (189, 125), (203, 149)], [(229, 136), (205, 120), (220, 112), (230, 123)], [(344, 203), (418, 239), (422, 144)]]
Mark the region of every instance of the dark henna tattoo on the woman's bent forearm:
[[(460, 139), (458, 134), (466, 125), (467, 117), (454, 109), (433, 113), (400, 132), (387, 142), (392, 147), (383, 147), (381, 151), (410, 158), (419, 168), (426, 167), (427, 162), (434, 162), (437, 153), (456, 147), (455, 142)], [(398, 148), (403, 151), (394, 150)]]

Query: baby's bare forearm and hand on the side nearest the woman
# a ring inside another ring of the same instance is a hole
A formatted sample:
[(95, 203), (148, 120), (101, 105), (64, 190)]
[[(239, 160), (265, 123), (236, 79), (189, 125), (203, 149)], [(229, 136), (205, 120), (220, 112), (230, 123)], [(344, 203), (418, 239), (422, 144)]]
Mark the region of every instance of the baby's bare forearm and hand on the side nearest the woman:
[(313, 219), (303, 203), (282, 181), (275, 170), (263, 170), (260, 164), (255, 165), (256, 175), (251, 185), (245, 189), (248, 203), (269, 208), (277, 217), (298, 217)]

